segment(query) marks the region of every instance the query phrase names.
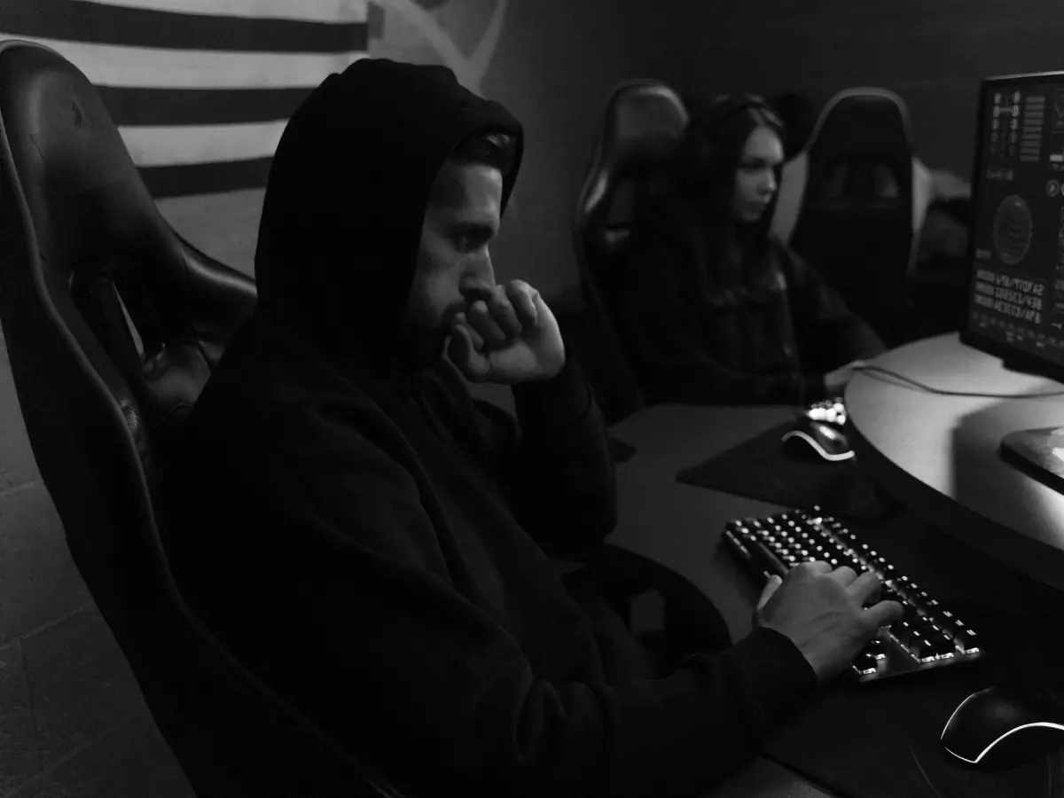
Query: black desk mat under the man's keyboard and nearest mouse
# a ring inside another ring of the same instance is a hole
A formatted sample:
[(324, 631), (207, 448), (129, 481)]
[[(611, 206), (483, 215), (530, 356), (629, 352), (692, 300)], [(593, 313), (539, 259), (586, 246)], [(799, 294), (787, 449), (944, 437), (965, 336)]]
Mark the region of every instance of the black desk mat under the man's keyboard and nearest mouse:
[(838, 680), (777, 730), (765, 753), (855, 798), (1064, 795), (1064, 735), (1061, 744), (1000, 771), (965, 765), (940, 743), (953, 710), (984, 687), (1028, 691), (1047, 715), (1064, 711), (1064, 641), (1055, 632), (1064, 601), (909, 511), (849, 526), (976, 629), (987, 656), (881, 682)]

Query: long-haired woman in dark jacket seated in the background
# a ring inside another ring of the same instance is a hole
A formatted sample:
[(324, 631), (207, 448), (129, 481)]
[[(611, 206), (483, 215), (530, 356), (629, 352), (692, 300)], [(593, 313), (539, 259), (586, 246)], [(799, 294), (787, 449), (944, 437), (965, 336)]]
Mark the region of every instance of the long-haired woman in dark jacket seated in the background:
[(650, 402), (805, 404), (885, 347), (769, 234), (784, 131), (752, 95), (692, 118), (675, 192), (639, 220), (617, 294)]

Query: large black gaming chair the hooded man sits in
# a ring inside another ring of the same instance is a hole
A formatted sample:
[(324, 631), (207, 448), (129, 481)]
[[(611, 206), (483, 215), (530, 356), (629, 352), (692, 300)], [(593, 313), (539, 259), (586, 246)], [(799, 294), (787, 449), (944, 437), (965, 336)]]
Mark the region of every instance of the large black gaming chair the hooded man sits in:
[(52, 49), (0, 44), (0, 325), (33, 453), (197, 795), (396, 795), (193, 617), (160, 543), (168, 447), (253, 281), (170, 229), (99, 94)]

